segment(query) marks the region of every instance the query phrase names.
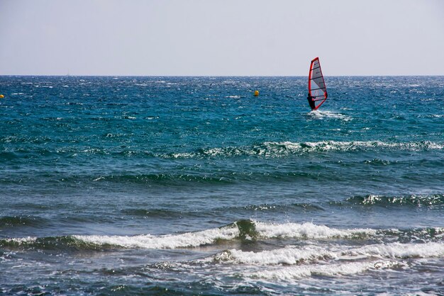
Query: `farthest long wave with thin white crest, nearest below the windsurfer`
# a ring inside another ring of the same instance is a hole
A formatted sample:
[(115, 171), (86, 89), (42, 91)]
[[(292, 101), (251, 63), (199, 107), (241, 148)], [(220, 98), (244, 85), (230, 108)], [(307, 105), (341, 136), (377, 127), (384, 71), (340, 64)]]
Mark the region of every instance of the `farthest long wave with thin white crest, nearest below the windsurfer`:
[[(116, 137), (116, 135), (106, 134), (105, 137)], [(121, 136), (119, 136), (121, 137)], [(1, 142), (9, 142), (10, 137), (0, 137)], [(38, 144), (45, 144), (46, 140), (40, 138)], [(52, 141), (52, 140), (50, 140)], [(34, 144), (34, 140), (30, 141)], [(389, 151), (412, 151), (420, 152), (427, 150), (443, 150), (444, 142), (382, 142), (382, 141), (319, 141), (319, 142), (262, 142), (245, 146), (233, 147), (207, 147), (198, 148), (185, 152), (152, 152), (144, 149), (116, 149), (109, 148), (91, 148), (89, 147), (60, 147), (57, 149), (48, 149), (48, 147), (20, 147), (0, 153), (0, 160), (11, 161), (18, 158), (38, 158), (40, 156), (63, 156), (68, 159), (84, 156), (109, 156), (109, 157), (143, 157), (160, 159), (204, 159), (204, 158), (231, 158), (240, 156), (254, 156), (265, 158), (282, 158), (291, 155), (324, 153), (324, 152), (366, 152), (374, 150)], [(366, 161), (368, 164), (389, 164), (388, 161), (373, 159)]]

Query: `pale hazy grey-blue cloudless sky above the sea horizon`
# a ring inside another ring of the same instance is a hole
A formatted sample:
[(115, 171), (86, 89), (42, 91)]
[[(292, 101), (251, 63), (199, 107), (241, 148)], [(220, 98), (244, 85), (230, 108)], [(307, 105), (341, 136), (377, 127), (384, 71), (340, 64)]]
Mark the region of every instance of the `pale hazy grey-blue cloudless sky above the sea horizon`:
[(444, 75), (441, 0), (0, 0), (0, 75)]

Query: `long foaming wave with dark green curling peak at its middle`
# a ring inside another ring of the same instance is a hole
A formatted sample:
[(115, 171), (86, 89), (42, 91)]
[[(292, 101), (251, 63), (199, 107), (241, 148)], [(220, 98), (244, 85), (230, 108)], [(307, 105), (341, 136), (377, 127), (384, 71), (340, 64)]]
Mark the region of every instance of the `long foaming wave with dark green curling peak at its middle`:
[(94, 246), (93, 249), (100, 249), (101, 247), (107, 249), (110, 246), (138, 249), (177, 249), (218, 244), (219, 241), (229, 241), (233, 239), (240, 241), (282, 238), (329, 239), (339, 237), (360, 239), (374, 233), (376, 233), (376, 231), (373, 229), (335, 229), (310, 222), (303, 224), (272, 224), (251, 220), (239, 220), (224, 227), (206, 229), (200, 232), (186, 232), (183, 234), (140, 234), (135, 236), (72, 235), (55, 238), (26, 237), (1, 239), (0, 246), (44, 246), (45, 248), (52, 248), (57, 245), (57, 248), (59, 248), (67, 244), (69, 247), (78, 245), (79, 248)]

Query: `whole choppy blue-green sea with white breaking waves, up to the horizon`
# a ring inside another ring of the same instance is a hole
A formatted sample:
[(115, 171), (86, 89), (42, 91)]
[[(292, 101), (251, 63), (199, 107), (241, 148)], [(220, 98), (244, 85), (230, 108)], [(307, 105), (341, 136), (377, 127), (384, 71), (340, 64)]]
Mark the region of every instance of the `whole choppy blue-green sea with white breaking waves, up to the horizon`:
[(0, 76), (0, 294), (444, 295), (444, 77), (306, 84)]

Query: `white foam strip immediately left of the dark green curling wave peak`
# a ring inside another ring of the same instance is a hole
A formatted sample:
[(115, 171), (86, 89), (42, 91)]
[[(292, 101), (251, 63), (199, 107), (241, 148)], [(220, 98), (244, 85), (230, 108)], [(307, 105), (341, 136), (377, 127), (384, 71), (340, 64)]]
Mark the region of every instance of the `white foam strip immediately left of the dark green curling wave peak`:
[(75, 239), (93, 244), (111, 244), (126, 248), (143, 249), (174, 249), (189, 246), (213, 244), (217, 239), (234, 239), (239, 234), (238, 227), (223, 227), (207, 229), (201, 232), (187, 232), (184, 234), (167, 234), (153, 236), (150, 234), (128, 236), (106, 235), (74, 235)]

